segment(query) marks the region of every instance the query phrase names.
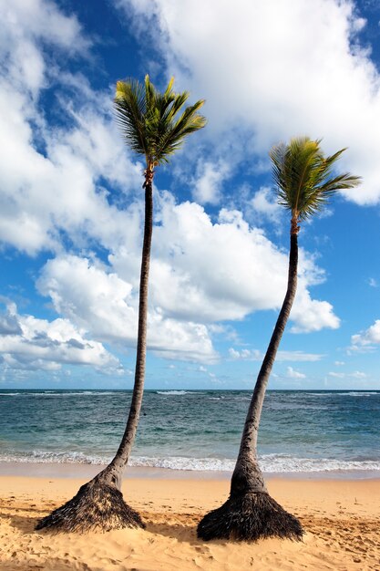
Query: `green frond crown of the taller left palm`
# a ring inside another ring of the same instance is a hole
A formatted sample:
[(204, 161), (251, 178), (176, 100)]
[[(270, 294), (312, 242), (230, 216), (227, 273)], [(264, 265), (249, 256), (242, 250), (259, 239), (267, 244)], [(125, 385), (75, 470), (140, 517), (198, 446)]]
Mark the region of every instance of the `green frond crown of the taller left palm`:
[(118, 124), (132, 151), (145, 155), (147, 168), (169, 161), (186, 135), (201, 129), (206, 119), (198, 113), (204, 99), (178, 114), (189, 98), (189, 92), (173, 92), (171, 78), (164, 93), (159, 93), (145, 76), (144, 84), (136, 79), (118, 81), (115, 109)]

